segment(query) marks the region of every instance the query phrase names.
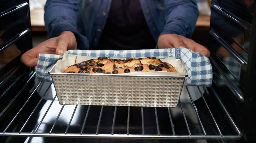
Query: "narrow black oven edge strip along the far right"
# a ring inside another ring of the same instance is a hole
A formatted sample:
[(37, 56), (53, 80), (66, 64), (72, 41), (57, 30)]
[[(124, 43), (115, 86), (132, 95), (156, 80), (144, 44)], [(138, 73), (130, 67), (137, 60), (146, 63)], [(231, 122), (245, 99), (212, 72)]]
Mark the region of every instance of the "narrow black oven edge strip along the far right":
[[(255, 5), (255, 3), (254, 3)], [(247, 65), (247, 77), (246, 77), (246, 91), (245, 91), (245, 108), (243, 112), (243, 125), (245, 137), (248, 141), (254, 142), (256, 140), (255, 127), (256, 127), (256, 8), (253, 8), (253, 21), (252, 32), (250, 38), (250, 51)]]

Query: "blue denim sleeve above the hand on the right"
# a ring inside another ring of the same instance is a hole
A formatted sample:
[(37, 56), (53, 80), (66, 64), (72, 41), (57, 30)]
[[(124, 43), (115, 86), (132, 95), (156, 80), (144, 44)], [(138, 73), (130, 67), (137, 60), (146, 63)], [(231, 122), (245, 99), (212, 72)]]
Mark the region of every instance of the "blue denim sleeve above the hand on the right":
[(162, 34), (178, 34), (190, 38), (199, 11), (196, 0), (165, 0), (166, 14)]

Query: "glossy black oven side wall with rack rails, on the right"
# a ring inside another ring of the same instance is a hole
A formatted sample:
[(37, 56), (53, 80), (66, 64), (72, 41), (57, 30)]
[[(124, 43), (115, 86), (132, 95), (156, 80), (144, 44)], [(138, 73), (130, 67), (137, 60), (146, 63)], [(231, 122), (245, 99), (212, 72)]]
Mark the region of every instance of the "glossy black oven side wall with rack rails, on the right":
[(213, 87), (247, 142), (256, 127), (255, 9), (253, 0), (212, 0), (209, 31)]

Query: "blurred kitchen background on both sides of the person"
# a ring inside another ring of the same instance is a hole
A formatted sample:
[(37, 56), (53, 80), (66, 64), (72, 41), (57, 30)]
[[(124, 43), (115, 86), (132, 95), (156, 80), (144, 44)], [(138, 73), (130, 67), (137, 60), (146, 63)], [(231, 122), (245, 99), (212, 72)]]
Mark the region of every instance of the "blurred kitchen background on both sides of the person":
[[(199, 17), (191, 39), (208, 47), (208, 31), (210, 27), (211, 0), (196, 0)], [(47, 31), (44, 27), (44, 5), (46, 0), (30, 0), (30, 15), (33, 47), (47, 40)]]

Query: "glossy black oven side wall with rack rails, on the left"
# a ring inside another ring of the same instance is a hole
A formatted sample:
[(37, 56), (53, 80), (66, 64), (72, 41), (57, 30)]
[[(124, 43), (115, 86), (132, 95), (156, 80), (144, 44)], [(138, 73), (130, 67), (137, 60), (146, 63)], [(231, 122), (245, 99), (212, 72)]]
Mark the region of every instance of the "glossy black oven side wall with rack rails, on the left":
[(33, 69), (20, 56), (32, 48), (28, 0), (0, 2), (0, 109), (21, 91)]

